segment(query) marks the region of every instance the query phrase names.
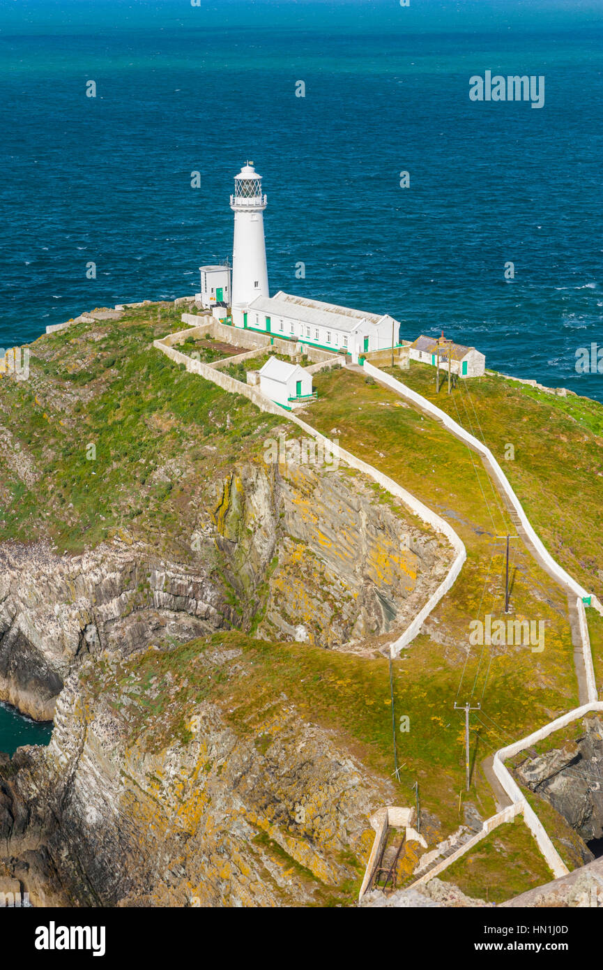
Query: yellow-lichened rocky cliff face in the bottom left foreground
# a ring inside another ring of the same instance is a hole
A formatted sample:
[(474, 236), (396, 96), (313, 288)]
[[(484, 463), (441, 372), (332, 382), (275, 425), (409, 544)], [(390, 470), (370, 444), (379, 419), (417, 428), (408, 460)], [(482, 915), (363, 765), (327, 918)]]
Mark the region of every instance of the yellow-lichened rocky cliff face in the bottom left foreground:
[[(48, 749), (0, 765), (0, 877), (42, 905), (351, 902), (393, 792), (237, 647), (88, 658)], [(235, 706), (233, 706), (235, 704)]]

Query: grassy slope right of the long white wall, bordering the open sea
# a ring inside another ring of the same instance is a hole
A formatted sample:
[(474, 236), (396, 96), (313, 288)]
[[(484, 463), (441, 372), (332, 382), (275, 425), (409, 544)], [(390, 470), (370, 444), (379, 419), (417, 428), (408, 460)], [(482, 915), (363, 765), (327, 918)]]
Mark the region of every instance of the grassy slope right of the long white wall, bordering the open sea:
[[(433, 369), (415, 362), (396, 376), (483, 436), (551, 554), (601, 597), (603, 406), (490, 374), (436, 395)], [(513, 460), (505, 460), (508, 444)]]

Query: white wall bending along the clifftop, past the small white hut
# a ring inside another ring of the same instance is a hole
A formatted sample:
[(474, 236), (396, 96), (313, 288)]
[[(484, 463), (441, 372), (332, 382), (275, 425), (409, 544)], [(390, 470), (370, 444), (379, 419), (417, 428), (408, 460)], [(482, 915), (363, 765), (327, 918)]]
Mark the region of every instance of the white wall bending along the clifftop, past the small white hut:
[[(181, 340), (186, 339), (192, 333), (196, 331), (205, 331), (207, 325), (204, 327), (196, 327), (191, 330), (179, 331), (177, 334), (169, 334), (167, 337), (159, 340), (153, 340), (153, 346), (157, 350), (161, 350), (162, 353), (166, 354), (175, 364), (183, 364), (189, 373), (198, 373), (201, 377), (205, 377), (206, 380), (212, 381), (214, 384), (218, 384), (225, 391), (230, 391), (233, 394), (241, 394), (248, 398), (253, 404), (256, 404), (264, 411), (269, 411), (270, 414), (277, 414), (283, 420), (291, 421), (293, 424), (297, 424), (299, 428), (302, 428), (307, 435), (316, 438), (316, 440), (323, 442), (329, 442), (329, 438), (321, 435), (320, 432), (312, 428), (311, 425), (302, 421), (301, 418), (296, 417), (291, 411), (286, 411), (278, 404), (273, 404), (266, 398), (256, 387), (249, 384), (243, 384), (239, 380), (235, 380), (234, 377), (229, 376), (229, 374), (216, 371), (209, 364), (202, 364), (201, 361), (193, 360), (192, 357), (188, 357), (186, 354), (181, 353), (179, 350), (175, 350), (172, 344), (177, 343)], [(331, 442), (329, 442), (331, 446)], [(425, 604), (423, 609), (417, 614), (415, 619), (412, 621), (409, 627), (402, 633), (400, 637), (396, 640), (394, 644), (390, 647), (391, 656), (395, 657), (399, 651), (407, 646), (411, 640), (417, 635), (421, 626), (427, 619), (431, 610), (437, 605), (440, 599), (448, 593), (452, 588), (455, 581), (457, 580), (462, 564), (467, 558), (464, 543), (460, 539), (460, 536), (454, 531), (452, 526), (448, 524), (444, 519), (442, 519), (436, 512), (424, 505), (422, 501), (407, 492), (405, 488), (398, 485), (393, 478), (389, 478), (388, 475), (383, 474), (382, 471), (374, 469), (372, 465), (368, 465), (363, 462), (356, 455), (353, 455), (349, 451), (345, 451), (344, 448), (339, 448), (339, 457), (346, 462), (353, 469), (362, 471), (363, 474), (372, 478), (373, 481), (381, 485), (387, 492), (391, 495), (396, 496), (397, 499), (403, 502), (407, 508), (414, 512), (423, 522), (426, 522), (436, 533), (444, 535), (455, 552), (455, 559), (452, 566), (448, 572), (446, 578), (440, 583), (435, 592), (428, 598), (428, 602)]]

